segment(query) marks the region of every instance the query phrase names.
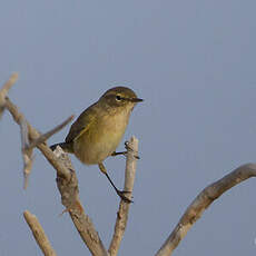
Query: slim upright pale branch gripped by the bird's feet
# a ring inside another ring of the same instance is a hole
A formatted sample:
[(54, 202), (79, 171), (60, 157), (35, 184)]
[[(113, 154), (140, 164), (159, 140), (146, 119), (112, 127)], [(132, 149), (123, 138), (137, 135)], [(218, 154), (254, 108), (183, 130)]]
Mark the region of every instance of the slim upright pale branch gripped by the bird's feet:
[[(124, 188), (125, 191), (132, 193), (137, 159), (138, 159), (138, 139), (132, 136), (130, 141), (127, 144), (126, 178), (125, 178), (125, 188)], [(129, 194), (129, 199), (131, 199), (131, 193)], [(117, 213), (117, 220), (115, 225), (115, 232), (108, 250), (111, 256), (116, 256), (120, 247), (120, 243), (124, 237), (126, 225), (128, 221), (129, 207), (130, 204), (120, 200), (119, 210)]]

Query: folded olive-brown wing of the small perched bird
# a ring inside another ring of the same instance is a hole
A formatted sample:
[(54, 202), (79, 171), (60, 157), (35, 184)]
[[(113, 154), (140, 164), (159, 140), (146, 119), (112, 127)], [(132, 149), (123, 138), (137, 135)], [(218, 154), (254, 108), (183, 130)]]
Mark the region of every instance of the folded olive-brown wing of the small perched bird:
[(85, 131), (87, 131), (90, 125), (95, 122), (97, 117), (92, 106), (95, 105), (91, 105), (89, 108), (87, 108), (72, 124), (69, 134), (65, 139), (66, 142), (72, 142), (75, 139), (80, 137)]

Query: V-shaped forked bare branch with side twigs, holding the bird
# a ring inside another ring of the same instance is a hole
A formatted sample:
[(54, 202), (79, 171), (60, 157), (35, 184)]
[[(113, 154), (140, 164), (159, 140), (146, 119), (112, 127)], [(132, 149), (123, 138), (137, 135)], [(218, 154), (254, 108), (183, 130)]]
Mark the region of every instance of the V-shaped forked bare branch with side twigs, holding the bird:
[[(9, 82), (7, 87), (9, 88), (10, 85), (11, 83)], [(73, 220), (78, 233), (80, 234), (82, 240), (85, 242), (91, 254), (95, 256), (108, 256), (109, 254), (117, 255), (128, 220), (129, 204), (122, 200), (120, 201), (115, 226), (115, 234), (108, 254), (99, 238), (98, 233), (93, 227), (93, 224), (86, 215), (83, 207), (81, 206), (76, 173), (73, 170), (73, 167), (71, 166), (68, 155), (65, 154), (60, 148), (57, 148), (57, 151), (53, 154), (45, 142), (51, 135), (59, 131), (63, 126), (66, 126), (72, 119), (72, 117), (68, 118), (63, 124), (56, 127), (55, 129), (46, 132), (45, 135), (41, 135), (28, 122), (28, 120), (26, 120), (24, 116), (19, 111), (17, 106), (13, 105), (6, 95), (4, 108), (9, 110), (14, 121), (20, 126), (22, 156), (24, 161), (24, 186), (27, 186), (28, 175), (32, 167), (32, 150), (35, 147), (37, 147), (43, 154), (47, 160), (56, 168), (57, 185), (61, 194), (62, 204), (66, 207), (65, 211), (68, 211), (70, 214), (70, 217)], [(131, 197), (135, 181), (136, 161), (138, 159), (138, 140), (132, 137), (131, 140), (127, 142), (127, 146), (128, 154), (126, 164), (125, 190), (130, 191), (129, 196)], [(24, 217), (27, 220), (33, 219), (33, 216), (29, 215), (29, 213), (27, 211), (24, 213)]]

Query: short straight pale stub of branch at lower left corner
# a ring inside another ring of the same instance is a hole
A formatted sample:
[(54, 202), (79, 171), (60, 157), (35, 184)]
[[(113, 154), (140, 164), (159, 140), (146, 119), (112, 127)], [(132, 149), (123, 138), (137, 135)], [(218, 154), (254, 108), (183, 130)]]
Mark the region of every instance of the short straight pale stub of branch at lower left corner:
[(29, 225), (29, 227), (33, 234), (33, 237), (35, 237), (37, 244), (41, 248), (45, 256), (56, 256), (56, 252), (51, 247), (51, 244), (50, 244), (42, 226), (38, 221), (38, 218), (35, 215), (32, 215), (31, 213), (29, 213), (28, 210), (26, 210), (23, 213), (23, 216), (24, 216), (24, 219), (26, 219), (27, 224)]

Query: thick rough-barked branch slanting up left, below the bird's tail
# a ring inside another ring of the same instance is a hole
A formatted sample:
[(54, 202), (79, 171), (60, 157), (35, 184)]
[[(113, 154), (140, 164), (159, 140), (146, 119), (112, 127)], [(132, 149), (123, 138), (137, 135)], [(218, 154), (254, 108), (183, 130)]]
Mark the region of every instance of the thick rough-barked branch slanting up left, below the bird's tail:
[[(20, 125), (21, 120), (24, 120), (23, 115), (10, 101), (9, 98), (6, 99), (6, 107), (18, 125)], [(40, 134), (28, 121), (26, 122), (28, 127), (29, 140), (37, 141), (40, 138)], [(61, 193), (62, 204), (66, 207), (66, 211), (69, 211), (75, 226), (77, 227), (81, 238), (87, 244), (91, 254), (95, 256), (108, 256), (108, 253), (105, 249), (96, 229), (93, 228), (91, 220), (85, 214), (80, 204), (77, 177), (71, 163), (70, 165), (67, 164), (68, 161), (66, 158), (68, 155), (63, 151), (60, 155), (55, 155), (46, 144), (37, 144), (36, 146), (57, 170), (57, 184)]]

